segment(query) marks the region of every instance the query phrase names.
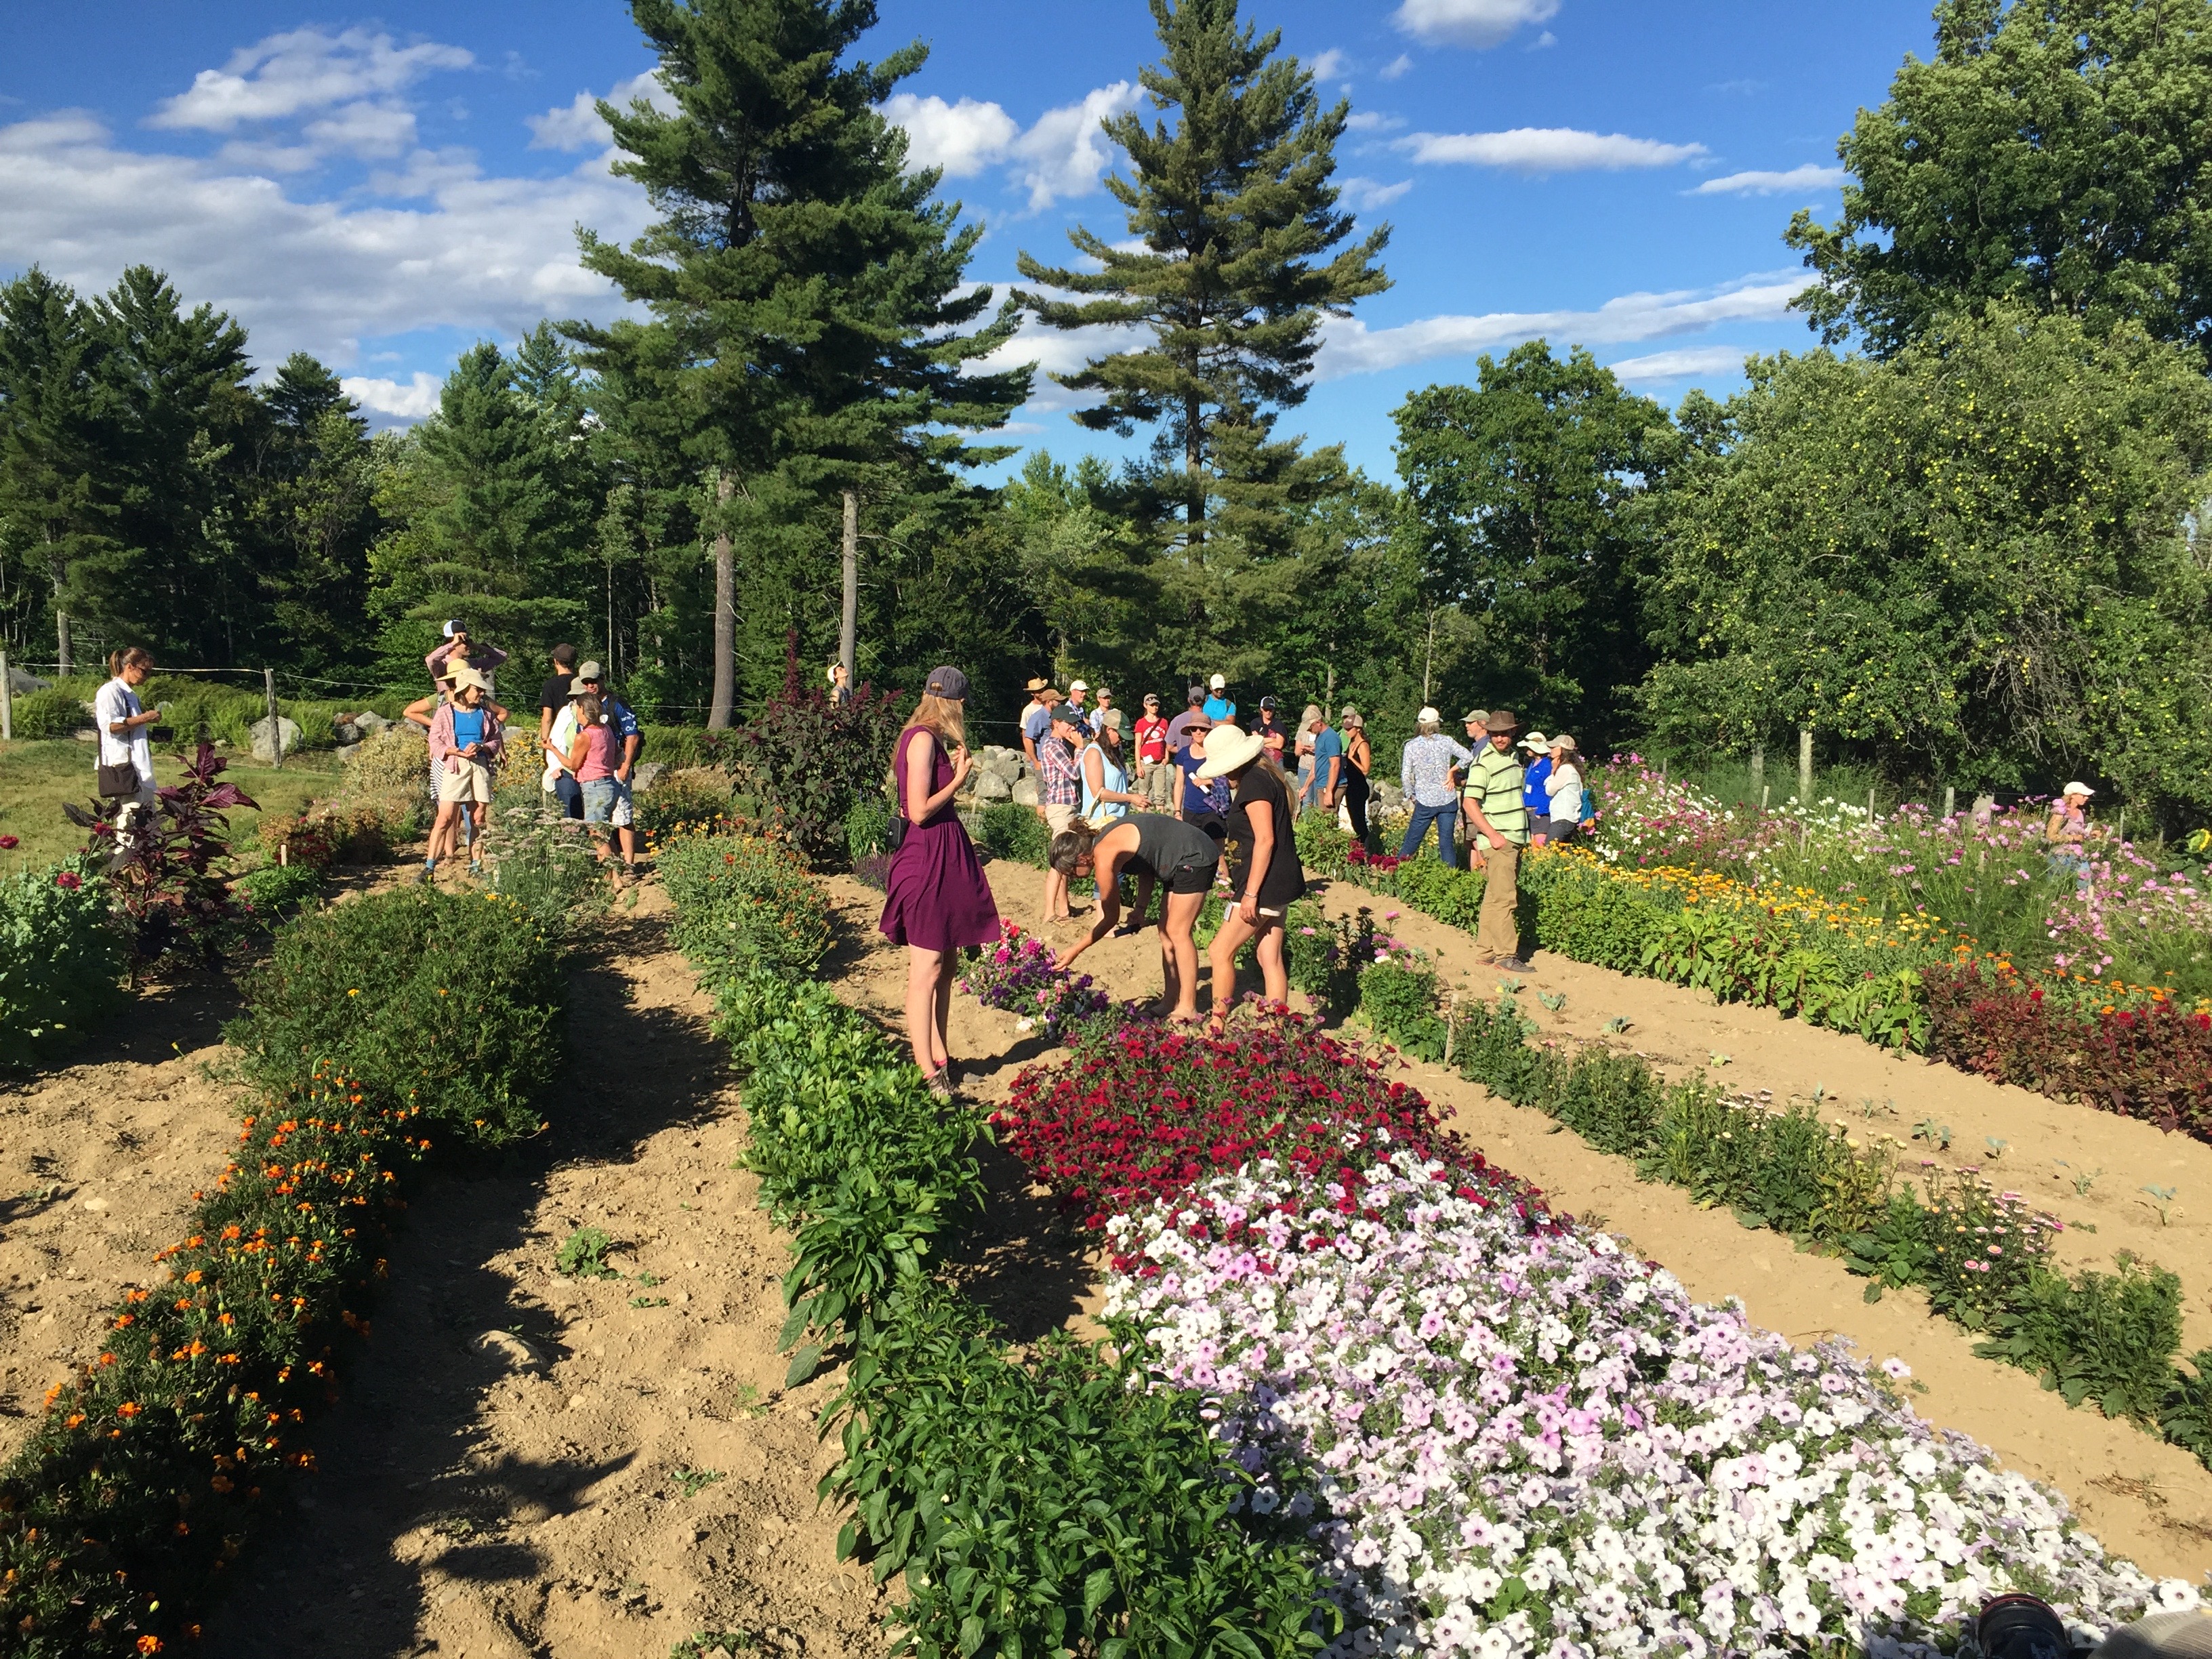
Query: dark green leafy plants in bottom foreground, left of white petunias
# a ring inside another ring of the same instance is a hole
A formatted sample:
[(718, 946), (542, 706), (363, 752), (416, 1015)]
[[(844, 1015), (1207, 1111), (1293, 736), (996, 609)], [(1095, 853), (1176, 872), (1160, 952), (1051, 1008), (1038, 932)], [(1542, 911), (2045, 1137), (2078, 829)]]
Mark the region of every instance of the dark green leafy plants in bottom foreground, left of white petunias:
[(1340, 1628), (1298, 1522), (1239, 1515), (1197, 1396), (1141, 1385), (1064, 1332), (1029, 1365), (962, 1298), (918, 1285), (854, 1365), (825, 1495), (854, 1504), (838, 1557), (905, 1573), (898, 1652), (1102, 1659), (1318, 1652)]

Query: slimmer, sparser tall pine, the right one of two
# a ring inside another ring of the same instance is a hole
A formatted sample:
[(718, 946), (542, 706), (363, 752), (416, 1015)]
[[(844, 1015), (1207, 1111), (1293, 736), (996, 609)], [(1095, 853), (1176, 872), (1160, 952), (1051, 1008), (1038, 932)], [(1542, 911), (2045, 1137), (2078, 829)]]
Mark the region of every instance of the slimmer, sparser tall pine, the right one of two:
[(1053, 292), (1020, 299), (1053, 327), (1150, 332), (1060, 380), (1099, 394), (1075, 414), (1093, 431), (1155, 429), (1155, 487), (1183, 515), (1161, 615), (1186, 666), (1259, 670), (1250, 624), (1290, 604), (1298, 513), (1340, 476), (1338, 456), (1301, 456), (1274, 422), (1305, 398), (1323, 316), (1389, 285), (1376, 263), (1389, 228), (1340, 248), (1354, 223), (1329, 179), (1349, 104), (1318, 104), (1312, 73), (1276, 58), (1281, 31), (1254, 35), (1237, 0), (1150, 4), (1166, 53), (1141, 82), (1179, 119), (1104, 122), (1133, 168), (1106, 188), (1141, 248), (1077, 228), (1068, 239), (1099, 268), (1022, 254), (1022, 276)]

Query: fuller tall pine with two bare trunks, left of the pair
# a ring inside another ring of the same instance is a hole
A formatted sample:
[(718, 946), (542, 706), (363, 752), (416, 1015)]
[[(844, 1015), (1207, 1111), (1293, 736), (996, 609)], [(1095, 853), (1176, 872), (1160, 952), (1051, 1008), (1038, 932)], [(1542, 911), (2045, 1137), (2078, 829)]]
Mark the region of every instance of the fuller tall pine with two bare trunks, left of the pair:
[[(823, 495), (843, 498), (843, 653), (854, 650), (858, 509), (916, 467), (987, 460), (987, 429), (1029, 396), (1029, 372), (967, 374), (1013, 336), (1009, 305), (962, 290), (980, 226), (907, 173), (905, 133), (876, 113), (920, 69), (920, 44), (852, 60), (874, 0), (633, 0), (659, 51), (668, 115), (646, 100), (599, 115), (661, 219), (628, 248), (582, 232), (584, 265), (641, 301), (650, 323), (568, 323), (608, 387), (635, 456), (710, 478), (714, 690), (728, 726), (737, 679), (737, 546), (799, 551)], [(670, 453), (672, 451), (672, 453)], [(812, 591), (805, 571), (754, 588)]]

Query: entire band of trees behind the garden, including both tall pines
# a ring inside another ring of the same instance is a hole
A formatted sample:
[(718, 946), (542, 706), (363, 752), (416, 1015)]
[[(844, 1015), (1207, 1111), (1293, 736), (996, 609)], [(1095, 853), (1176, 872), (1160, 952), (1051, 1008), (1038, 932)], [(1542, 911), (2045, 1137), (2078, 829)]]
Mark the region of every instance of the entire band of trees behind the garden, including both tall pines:
[[(1338, 204), (1349, 106), (1237, 0), (1150, 0), (1113, 223), (971, 285), (982, 234), (876, 108), (925, 49), (865, 0), (635, 0), (666, 108), (602, 104), (659, 219), (582, 232), (635, 312), (484, 343), (369, 436), (294, 354), (153, 270), (0, 288), (0, 635), (414, 686), (447, 615), (575, 639), (728, 723), (790, 653), (1004, 739), (1033, 672), (1135, 699), (1506, 703), (1586, 748), (1794, 745), (1898, 783), (2093, 774), (2212, 807), (2212, 0), (1947, 0), (1785, 237), (1827, 343), (1725, 403), (1579, 347), (1409, 392), (1369, 478), (1292, 431), (1327, 316), (1389, 283)], [(1133, 345), (1064, 376), (1135, 460), (1031, 453), (1020, 319)], [(1126, 338), (1126, 336), (1124, 336)]]

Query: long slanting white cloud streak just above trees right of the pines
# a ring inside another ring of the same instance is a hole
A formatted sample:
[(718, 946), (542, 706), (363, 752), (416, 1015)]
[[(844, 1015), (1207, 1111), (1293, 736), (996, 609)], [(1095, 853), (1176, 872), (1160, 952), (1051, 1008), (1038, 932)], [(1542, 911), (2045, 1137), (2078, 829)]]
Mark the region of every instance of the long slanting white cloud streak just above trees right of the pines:
[(1491, 352), (1537, 336), (1575, 345), (1626, 345), (1670, 334), (1694, 334), (1717, 323), (1774, 323), (1790, 314), (1790, 301), (1807, 285), (1803, 272), (1745, 276), (1719, 290), (1668, 294), (1621, 294), (1595, 312), (1489, 312), (1484, 316), (1427, 316), (1400, 327), (1367, 327), (1356, 316), (1323, 323), (1316, 374), (1340, 380), (1349, 374), (1402, 369), (1440, 356)]

